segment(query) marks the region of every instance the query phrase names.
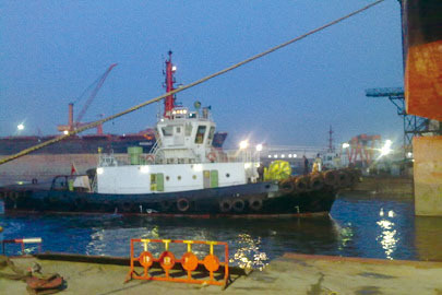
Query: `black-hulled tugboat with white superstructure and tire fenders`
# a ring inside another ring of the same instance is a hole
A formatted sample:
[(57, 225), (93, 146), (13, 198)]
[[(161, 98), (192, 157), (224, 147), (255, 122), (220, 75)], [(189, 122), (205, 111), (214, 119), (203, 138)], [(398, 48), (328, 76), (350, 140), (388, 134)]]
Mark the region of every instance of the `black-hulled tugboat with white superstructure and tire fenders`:
[[(166, 91), (174, 91), (176, 67), (169, 51)], [(5, 211), (108, 212), (152, 215), (290, 216), (326, 214), (337, 191), (357, 179), (354, 170), (291, 176), (286, 162), (262, 167), (255, 149), (235, 153), (213, 146), (211, 109), (191, 110), (164, 102), (156, 143), (129, 157), (100, 154), (87, 175), (58, 176), (50, 189), (0, 191)]]

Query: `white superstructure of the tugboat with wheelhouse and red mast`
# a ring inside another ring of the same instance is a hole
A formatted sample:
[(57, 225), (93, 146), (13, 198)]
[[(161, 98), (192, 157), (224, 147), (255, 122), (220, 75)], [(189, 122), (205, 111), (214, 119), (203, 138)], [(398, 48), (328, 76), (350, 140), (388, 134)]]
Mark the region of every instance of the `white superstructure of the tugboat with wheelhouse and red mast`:
[[(167, 92), (174, 90), (175, 71), (169, 52)], [(259, 155), (247, 149), (232, 154), (214, 149), (215, 122), (208, 107), (200, 108), (199, 102), (192, 111), (176, 106), (175, 96), (167, 96), (151, 154), (136, 154), (138, 148), (132, 148), (130, 163), (112, 155), (100, 155), (95, 190), (98, 193), (162, 193), (256, 181)]]

